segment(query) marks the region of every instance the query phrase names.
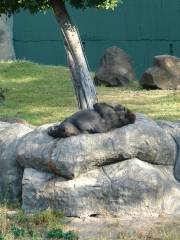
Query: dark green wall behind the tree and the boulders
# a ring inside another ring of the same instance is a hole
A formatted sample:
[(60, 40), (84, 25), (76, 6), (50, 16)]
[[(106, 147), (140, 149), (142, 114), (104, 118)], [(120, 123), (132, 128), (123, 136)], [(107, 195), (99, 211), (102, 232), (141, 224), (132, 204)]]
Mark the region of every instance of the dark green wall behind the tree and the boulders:
[[(180, 0), (124, 0), (115, 11), (70, 9), (91, 70), (96, 70), (103, 51), (116, 45), (132, 58), (139, 77), (154, 55), (180, 56)], [(17, 58), (45, 64), (66, 65), (63, 42), (54, 16), (14, 16)]]

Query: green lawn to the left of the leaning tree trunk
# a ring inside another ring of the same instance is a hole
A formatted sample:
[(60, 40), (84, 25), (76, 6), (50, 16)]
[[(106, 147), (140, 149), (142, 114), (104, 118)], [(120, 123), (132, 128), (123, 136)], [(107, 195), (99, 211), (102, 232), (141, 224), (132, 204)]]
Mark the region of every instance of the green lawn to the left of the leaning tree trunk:
[(62, 120), (76, 110), (69, 79), (63, 67), (0, 63), (0, 87), (7, 89), (1, 116), (23, 118), (35, 125)]

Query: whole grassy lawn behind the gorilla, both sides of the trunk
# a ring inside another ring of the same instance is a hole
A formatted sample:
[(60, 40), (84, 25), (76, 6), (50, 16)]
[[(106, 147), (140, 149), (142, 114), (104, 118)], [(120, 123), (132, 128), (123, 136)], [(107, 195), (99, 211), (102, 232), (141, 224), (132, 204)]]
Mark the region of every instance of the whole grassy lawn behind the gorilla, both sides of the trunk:
[[(0, 117), (22, 118), (34, 125), (61, 121), (77, 111), (69, 70), (27, 61), (0, 63), (0, 87), (7, 89)], [(121, 103), (154, 119), (180, 119), (180, 90), (146, 91), (97, 87), (99, 101)]]

